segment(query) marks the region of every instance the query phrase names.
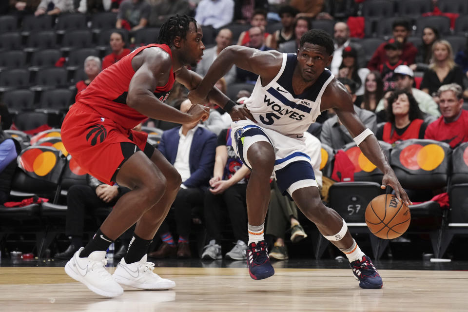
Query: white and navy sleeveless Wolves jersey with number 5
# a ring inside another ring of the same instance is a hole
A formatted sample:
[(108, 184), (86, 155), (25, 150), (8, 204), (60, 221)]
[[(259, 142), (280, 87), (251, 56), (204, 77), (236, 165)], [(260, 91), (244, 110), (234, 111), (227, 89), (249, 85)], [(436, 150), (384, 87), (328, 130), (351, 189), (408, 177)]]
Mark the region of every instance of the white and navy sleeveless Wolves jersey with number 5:
[(272, 129), (288, 137), (302, 137), (320, 115), (323, 92), (333, 79), (328, 69), (304, 93), (295, 94), (292, 74), (297, 55), (283, 54), (283, 64), (276, 77), (265, 87), (258, 77), (252, 96), (244, 104), (259, 126)]

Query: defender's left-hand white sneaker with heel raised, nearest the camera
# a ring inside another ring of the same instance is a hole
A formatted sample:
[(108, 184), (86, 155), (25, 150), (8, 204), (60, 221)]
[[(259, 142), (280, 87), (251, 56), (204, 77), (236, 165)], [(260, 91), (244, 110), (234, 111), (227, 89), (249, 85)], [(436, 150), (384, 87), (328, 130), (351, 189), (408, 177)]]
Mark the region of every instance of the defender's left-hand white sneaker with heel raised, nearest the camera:
[(117, 297), (123, 293), (123, 288), (112, 279), (111, 273), (105, 269), (106, 252), (95, 251), (88, 257), (80, 258), (81, 247), (65, 265), (65, 272), (74, 280), (83, 283), (91, 291), (104, 297)]

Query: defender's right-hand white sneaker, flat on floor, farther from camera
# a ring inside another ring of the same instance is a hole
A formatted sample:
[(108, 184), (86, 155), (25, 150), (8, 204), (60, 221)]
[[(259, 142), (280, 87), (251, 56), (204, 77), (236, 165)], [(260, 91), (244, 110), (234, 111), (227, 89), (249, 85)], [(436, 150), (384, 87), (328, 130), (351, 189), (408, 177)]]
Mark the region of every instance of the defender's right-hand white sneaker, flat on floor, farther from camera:
[(167, 290), (176, 287), (175, 282), (153, 273), (154, 269), (153, 262), (146, 262), (146, 254), (140, 261), (130, 264), (125, 263), (125, 258), (122, 258), (112, 277), (120, 285), (139, 289)]

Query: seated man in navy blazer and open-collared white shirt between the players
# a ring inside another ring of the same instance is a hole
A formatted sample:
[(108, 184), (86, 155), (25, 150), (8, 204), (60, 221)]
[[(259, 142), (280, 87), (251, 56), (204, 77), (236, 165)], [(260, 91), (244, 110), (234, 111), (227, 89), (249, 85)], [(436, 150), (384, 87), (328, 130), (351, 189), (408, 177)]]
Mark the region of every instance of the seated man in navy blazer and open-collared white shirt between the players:
[[(183, 101), (180, 111), (186, 113), (192, 104)], [(215, 164), (216, 135), (198, 126), (198, 121), (165, 131), (157, 149), (174, 165), (182, 177), (182, 185), (173, 203), (179, 239), (177, 247), (169, 232), (167, 221), (159, 228), (162, 244), (150, 257), (191, 257), (189, 234), (192, 223), (192, 208), (203, 206), (204, 192)]]

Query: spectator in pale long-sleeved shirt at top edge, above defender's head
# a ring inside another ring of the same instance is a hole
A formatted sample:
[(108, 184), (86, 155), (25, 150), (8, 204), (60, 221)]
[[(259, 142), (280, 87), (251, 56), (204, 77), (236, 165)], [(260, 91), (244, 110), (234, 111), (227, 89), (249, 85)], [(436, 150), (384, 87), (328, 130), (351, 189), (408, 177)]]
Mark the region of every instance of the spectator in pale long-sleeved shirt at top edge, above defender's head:
[(196, 8), (195, 20), (202, 26), (221, 28), (233, 21), (233, 0), (201, 0)]

